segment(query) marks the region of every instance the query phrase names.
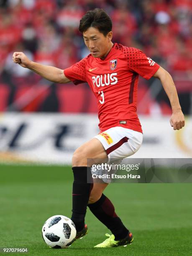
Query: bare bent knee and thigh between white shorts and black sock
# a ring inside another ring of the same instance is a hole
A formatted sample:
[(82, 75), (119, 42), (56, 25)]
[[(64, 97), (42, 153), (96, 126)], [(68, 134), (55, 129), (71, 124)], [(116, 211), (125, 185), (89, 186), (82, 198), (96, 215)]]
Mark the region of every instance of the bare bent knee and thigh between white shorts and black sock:
[[(72, 166), (87, 166), (87, 159), (108, 159), (102, 143), (97, 138), (92, 138), (74, 151)], [(89, 161), (89, 166), (99, 164), (97, 160)]]

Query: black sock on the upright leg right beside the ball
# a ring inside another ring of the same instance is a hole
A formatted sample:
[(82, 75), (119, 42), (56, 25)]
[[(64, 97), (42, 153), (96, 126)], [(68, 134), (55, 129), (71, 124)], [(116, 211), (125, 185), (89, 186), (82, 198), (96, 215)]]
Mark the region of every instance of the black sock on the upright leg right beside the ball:
[(84, 228), (84, 218), (87, 210), (87, 203), (93, 184), (87, 183), (90, 180), (91, 168), (87, 166), (72, 167), (74, 174), (72, 192), (72, 221), (77, 232)]

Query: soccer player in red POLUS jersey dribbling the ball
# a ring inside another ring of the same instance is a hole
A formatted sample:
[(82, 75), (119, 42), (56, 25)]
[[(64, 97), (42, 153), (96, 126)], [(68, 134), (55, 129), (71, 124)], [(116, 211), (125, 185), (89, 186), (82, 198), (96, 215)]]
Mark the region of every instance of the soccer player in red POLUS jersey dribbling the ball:
[(141, 146), (143, 134), (136, 113), (138, 76), (160, 79), (172, 106), (170, 123), (174, 130), (184, 127), (184, 115), (171, 75), (142, 51), (112, 42), (112, 21), (96, 8), (80, 20), (79, 31), (90, 54), (65, 70), (30, 61), (22, 52), (14, 52), (13, 61), (54, 83), (87, 82), (97, 98), (100, 134), (77, 148), (72, 158), (74, 174), (72, 220), (76, 239), (87, 234), (84, 218), (87, 206), (112, 235), (95, 247), (126, 246), (132, 233), (115, 213), (113, 203), (103, 194), (108, 183), (87, 183), (92, 163), (87, 159), (123, 159)]

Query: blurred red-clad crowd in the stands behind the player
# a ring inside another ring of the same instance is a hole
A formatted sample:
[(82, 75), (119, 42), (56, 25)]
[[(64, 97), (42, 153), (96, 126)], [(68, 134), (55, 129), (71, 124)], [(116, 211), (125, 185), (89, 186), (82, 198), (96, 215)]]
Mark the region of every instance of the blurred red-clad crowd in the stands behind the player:
[[(52, 84), (12, 61), (23, 51), (65, 69), (87, 56), (78, 26), (94, 8), (110, 15), (113, 42), (141, 49), (172, 74), (182, 110), (191, 114), (191, 0), (0, 0), (0, 111), (97, 113), (87, 84)], [(139, 80), (138, 113), (171, 113), (158, 79)]]

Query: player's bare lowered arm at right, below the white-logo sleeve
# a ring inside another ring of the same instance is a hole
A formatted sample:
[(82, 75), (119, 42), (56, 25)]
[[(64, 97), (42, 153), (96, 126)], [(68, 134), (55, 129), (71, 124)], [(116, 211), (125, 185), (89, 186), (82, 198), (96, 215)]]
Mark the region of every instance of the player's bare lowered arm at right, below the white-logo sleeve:
[(160, 67), (153, 77), (159, 78), (161, 84), (164, 87), (166, 95), (169, 97), (171, 106), (172, 106), (172, 116), (170, 123), (174, 130), (179, 130), (184, 127), (184, 115), (179, 104), (179, 98), (177, 95), (177, 90), (174, 85), (172, 76), (165, 69)]

